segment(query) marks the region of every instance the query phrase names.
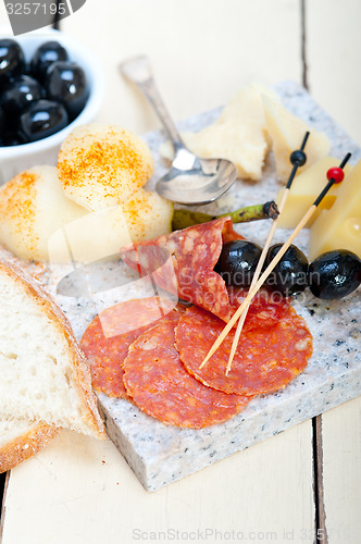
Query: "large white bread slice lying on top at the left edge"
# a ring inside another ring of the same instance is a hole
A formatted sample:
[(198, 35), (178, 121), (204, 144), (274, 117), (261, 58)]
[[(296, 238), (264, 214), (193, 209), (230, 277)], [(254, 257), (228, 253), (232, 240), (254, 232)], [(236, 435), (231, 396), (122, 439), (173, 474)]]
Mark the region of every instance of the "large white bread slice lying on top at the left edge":
[[(0, 372), (4, 429), (9, 420), (27, 420), (105, 436), (90, 371), (67, 320), (35, 280), (1, 261)], [(28, 432), (15, 431), (16, 441)], [(36, 433), (40, 443), (45, 434), (45, 428)], [(12, 440), (2, 440), (2, 447)]]

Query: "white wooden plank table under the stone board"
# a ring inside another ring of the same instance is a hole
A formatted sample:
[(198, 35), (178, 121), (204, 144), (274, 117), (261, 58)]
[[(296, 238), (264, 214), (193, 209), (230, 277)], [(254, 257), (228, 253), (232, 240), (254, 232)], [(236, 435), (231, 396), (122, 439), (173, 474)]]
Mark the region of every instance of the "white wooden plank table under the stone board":
[[(120, 60), (147, 52), (175, 119), (252, 79), (291, 78), (361, 145), (360, 21), (359, 0), (88, 0), (61, 28), (103, 62), (100, 121), (159, 127), (117, 73)], [(155, 494), (111, 442), (64, 431), (11, 471), (3, 506), (2, 544), (312, 543), (318, 532), (318, 542), (359, 544), (361, 397)]]

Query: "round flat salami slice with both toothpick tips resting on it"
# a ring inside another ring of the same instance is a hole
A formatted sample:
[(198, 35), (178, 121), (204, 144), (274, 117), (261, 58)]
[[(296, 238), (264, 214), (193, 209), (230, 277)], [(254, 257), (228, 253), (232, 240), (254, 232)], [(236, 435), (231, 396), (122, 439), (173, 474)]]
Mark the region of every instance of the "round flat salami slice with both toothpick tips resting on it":
[[(251, 318), (257, 319), (257, 316)], [(242, 331), (232, 370), (225, 375), (235, 331), (231, 331), (208, 363), (201, 362), (224, 329), (224, 323), (192, 306), (176, 327), (176, 347), (188, 372), (225, 393), (272, 393), (304, 370), (312, 355), (312, 336), (304, 320), (288, 307), (281, 321), (267, 329), (256, 324)]]

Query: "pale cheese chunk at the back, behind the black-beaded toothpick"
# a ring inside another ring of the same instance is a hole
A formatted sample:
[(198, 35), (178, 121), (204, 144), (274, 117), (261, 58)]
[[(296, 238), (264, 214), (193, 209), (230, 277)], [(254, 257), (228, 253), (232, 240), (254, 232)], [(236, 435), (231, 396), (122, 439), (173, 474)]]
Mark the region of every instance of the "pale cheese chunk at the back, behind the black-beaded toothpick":
[(324, 133), (310, 128), (304, 121), (286, 110), (278, 97), (275, 99), (264, 95), (262, 98), (266, 131), (275, 154), (276, 176), (279, 182), (286, 183), (291, 171), (289, 156), (299, 149), (307, 131), (310, 132), (306, 148), (307, 163), (299, 169), (299, 173), (327, 154), (331, 143)]

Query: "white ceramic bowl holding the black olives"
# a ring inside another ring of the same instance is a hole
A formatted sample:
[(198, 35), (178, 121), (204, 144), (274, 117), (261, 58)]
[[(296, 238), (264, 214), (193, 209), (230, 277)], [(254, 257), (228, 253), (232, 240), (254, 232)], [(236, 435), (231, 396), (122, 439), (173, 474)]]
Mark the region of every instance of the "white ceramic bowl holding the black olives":
[(103, 100), (105, 78), (103, 70), (84, 45), (58, 30), (42, 30), (23, 36), (1, 34), (1, 38), (15, 39), (23, 48), (28, 61), (35, 50), (45, 41), (57, 40), (69, 52), (71, 61), (77, 62), (84, 70), (89, 86), (89, 98), (82, 113), (65, 128), (48, 136), (48, 138), (23, 144), (22, 146), (0, 147), (0, 184), (8, 182), (23, 170), (38, 164), (57, 164), (60, 146), (77, 125), (90, 123), (97, 115)]

